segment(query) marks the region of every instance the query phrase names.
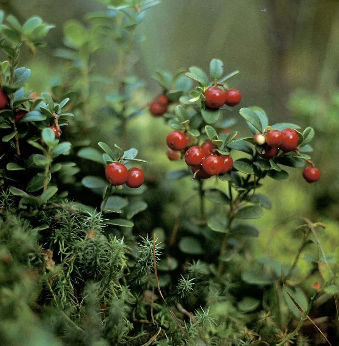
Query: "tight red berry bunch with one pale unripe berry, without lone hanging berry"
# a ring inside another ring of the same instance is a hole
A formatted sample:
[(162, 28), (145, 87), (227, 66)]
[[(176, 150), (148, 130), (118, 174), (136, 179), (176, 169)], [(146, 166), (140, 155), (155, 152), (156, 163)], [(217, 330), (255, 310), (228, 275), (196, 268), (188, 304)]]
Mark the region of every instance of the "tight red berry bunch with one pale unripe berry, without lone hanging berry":
[(295, 130), (287, 128), (284, 130), (272, 129), (267, 131), (264, 135), (257, 133), (253, 137), (253, 141), (259, 145), (264, 146), (261, 153), (258, 153), (259, 156), (263, 158), (271, 158), (276, 156), (279, 149), (284, 153), (294, 151), (298, 146), (298, 134)]

